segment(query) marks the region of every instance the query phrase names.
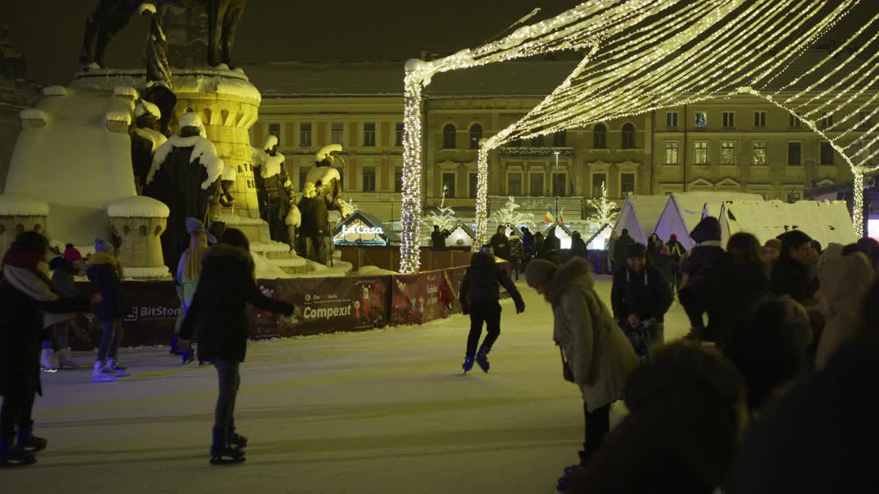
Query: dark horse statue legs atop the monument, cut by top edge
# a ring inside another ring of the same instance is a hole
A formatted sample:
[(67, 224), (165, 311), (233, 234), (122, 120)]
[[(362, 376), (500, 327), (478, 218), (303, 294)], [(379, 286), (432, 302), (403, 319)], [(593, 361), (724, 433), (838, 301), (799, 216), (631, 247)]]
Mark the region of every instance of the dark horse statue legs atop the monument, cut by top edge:
[(232, 46), (247, 0), (100, 0), (98, 7), (85, 21), (79, 62), (86, 67), (95, 63), (104, 69), (104, 54), (113, 35), (122, 31), (135, 11), (154, 13), (157, 4), (185, 9), (207, 7), (207, 63), (211, 67), (220, 63), (232, 67)]

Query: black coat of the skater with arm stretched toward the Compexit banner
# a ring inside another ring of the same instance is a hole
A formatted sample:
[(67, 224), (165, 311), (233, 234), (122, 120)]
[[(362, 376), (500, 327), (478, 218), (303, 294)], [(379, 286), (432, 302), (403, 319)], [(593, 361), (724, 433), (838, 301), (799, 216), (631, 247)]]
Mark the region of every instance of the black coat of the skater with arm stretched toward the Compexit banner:
[(253, 270), (250, 252), (225, 243), (207, 250), (193, 303), (180, 326), (180, 338), (198, 334), (202, 359), (244, 361), (250, 336), (248, 303), (276, 314), (293, 314), (293, 304), (259, 291)]

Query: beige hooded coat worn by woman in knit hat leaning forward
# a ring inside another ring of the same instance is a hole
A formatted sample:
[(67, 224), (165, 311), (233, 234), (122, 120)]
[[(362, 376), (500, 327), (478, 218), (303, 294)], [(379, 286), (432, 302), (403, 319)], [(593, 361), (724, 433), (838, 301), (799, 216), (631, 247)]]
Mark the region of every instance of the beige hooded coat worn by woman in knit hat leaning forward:
[(555, 319), (553, 338), (568, 360), (586, 409), (621, 399), (638, 358), (595, 291), (589, 263), (571, 258), (556, 270), (546, 299)]

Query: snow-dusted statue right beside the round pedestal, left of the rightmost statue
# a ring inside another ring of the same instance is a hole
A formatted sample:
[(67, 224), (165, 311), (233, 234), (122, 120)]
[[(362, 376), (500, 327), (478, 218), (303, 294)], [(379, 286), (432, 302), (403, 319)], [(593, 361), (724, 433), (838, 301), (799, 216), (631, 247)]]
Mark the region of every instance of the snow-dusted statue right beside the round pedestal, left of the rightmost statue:
[(262, 149), (253, 148), (253, 168), (259, 199), (259, 215), (269, 224), (269, 235), (276, 242), (293, 246), (300, 225), (299, 208), (293, 182), (287, 175), (284, 155), (278, 150), (278, 138), (269, 134)]

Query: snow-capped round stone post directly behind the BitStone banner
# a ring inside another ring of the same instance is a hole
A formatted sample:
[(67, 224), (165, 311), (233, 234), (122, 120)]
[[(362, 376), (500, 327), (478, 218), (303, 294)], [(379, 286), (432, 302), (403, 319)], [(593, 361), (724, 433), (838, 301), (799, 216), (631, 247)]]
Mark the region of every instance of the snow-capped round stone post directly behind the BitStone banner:
[(170, 213), (162, 202), (144, 196), (126, 197), (107, 205), (110, 231), (122, 240), (117, 254), (126, 278), (171, 279), (160, 241)]

